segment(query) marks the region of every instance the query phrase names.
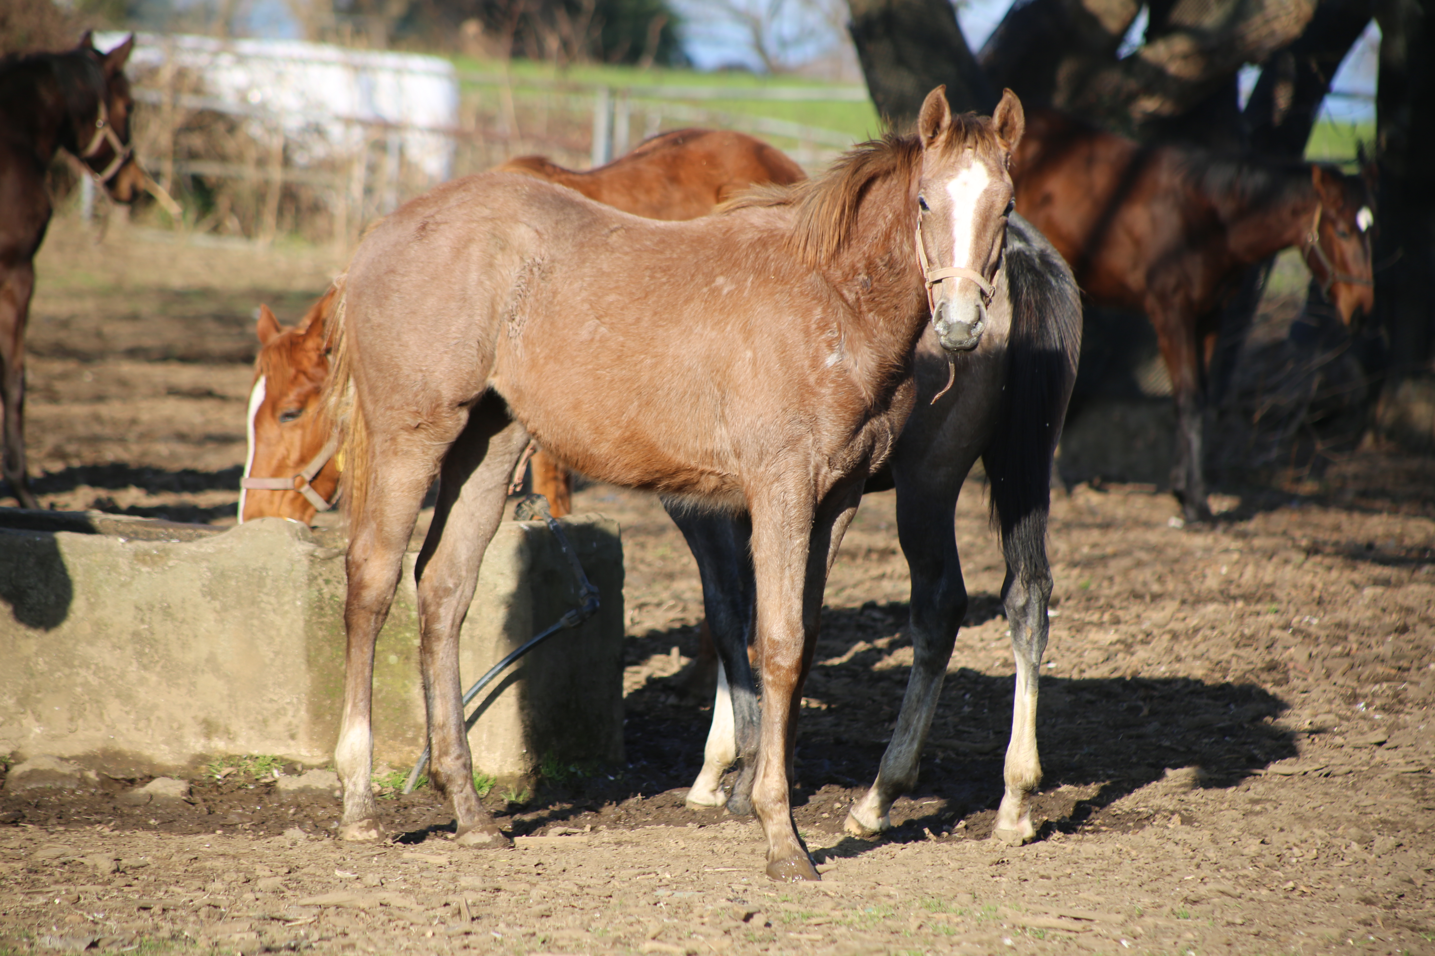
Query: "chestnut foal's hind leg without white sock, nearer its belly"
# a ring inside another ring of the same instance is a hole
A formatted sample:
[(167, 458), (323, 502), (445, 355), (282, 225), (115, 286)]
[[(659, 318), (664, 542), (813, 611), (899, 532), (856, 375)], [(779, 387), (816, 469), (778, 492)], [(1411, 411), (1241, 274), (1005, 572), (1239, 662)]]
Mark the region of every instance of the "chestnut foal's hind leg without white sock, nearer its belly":
[(509, 419), (501, 398), (485, 396), (474, 407), (443, 459), (433, 525), (415, 568), (430, 775), (453, 804), (458, 841), (465, 846), (508, 846), (474, 788), (458, 639), (484, 550), (504, 516), (514, 464), (527, 443), (528, 433)]

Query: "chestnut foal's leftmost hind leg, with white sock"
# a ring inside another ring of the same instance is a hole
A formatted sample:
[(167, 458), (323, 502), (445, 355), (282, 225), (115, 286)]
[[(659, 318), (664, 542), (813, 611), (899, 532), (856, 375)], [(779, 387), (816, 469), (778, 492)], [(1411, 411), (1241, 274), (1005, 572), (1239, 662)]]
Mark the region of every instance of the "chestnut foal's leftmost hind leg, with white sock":
[(399, 585), (403, 553), (418, 519), (423, 496), (433, 477), (435, 462), (428, 446), (399, 447), (399, 441), (375, 441), (364, 453), (383, 462), (383, 476), (375, 476), (363, 505), (349, 515), (349, 592), (344, 601), (344, 714), (334, 748), (334, 765), (344, 788), (344, 813), (339, 826), (343, 840), (380, 840), (379, 808), (373, 800), (373, 645), (389, 616)]

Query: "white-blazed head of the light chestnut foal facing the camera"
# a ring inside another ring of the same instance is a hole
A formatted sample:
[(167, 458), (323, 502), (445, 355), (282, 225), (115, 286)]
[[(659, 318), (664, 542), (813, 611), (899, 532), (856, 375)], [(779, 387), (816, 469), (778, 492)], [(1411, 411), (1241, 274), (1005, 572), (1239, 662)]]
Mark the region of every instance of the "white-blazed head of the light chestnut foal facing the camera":
[(917, 258), (926, 274), (931, 321), (943, 348), (970, 351), (982, 341), (992, 281), (1012, 212), (1012, 152), (1022, 139), (1022, 102), (1012, 90), (990, 119), (953, 118), (946, 87), (927, 93), (917, 118)]

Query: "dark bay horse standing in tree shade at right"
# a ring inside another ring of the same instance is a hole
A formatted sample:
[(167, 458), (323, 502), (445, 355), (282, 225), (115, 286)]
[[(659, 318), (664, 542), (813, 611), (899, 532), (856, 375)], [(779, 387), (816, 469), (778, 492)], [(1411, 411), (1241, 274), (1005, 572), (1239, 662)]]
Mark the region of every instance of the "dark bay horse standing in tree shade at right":
[(1052, 110), (1032, 110), (1012, 175), (1017, 211), (1060, 249), (1086, 295), (1155, 325), (1180, 421), (1172, 489), (1187, 520), (1210, 520), (1205, 365), (1220, 307), (1248, 267), (1299, 247), (1346, 324), (1369, 312), (1363, 181), (1329, 166), (1141, 146)]

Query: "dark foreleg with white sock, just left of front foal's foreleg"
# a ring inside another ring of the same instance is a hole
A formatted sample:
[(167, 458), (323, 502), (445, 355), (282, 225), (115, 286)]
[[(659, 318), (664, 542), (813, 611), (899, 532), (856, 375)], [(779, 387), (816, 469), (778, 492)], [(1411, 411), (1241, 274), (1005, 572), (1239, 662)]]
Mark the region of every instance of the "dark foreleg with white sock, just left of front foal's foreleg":
[[(680, 503), (663, 502), (683, 532), (703, 582), (703, 611), (718, 652), (718, 692), (703, 751), (703, 768), (687, 791), (687, 806), (720, 807), (735, 814), (752, 813), (752, 775), (758, 755), (758, 689), (748, 661), (752, 629), (753, 579), (746, 515), (693, 513)], [(730, 798), (722, 790), (723, 774), (740, 764)]]

